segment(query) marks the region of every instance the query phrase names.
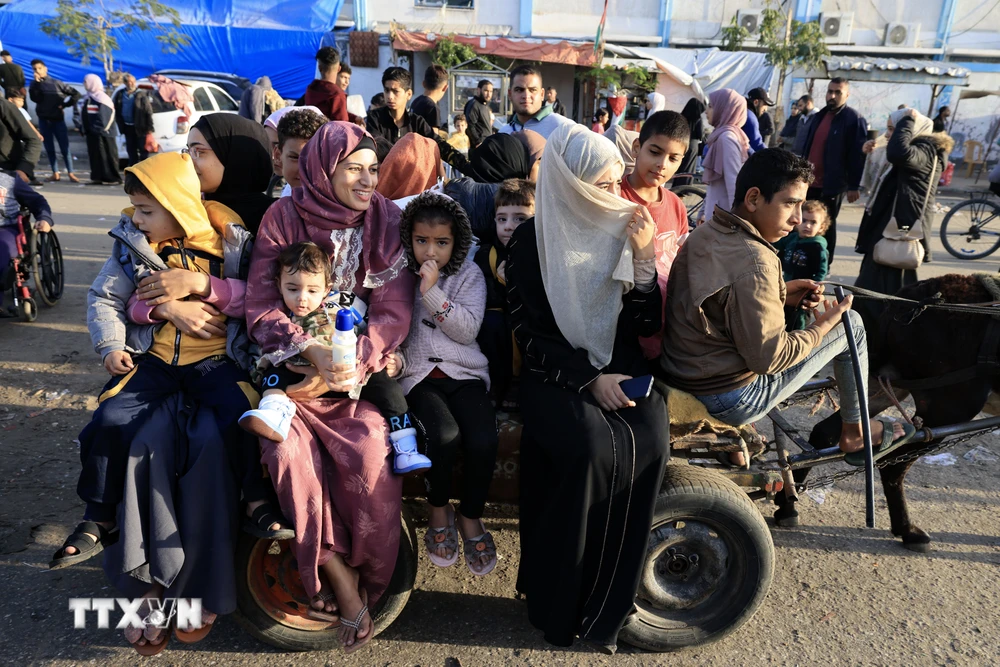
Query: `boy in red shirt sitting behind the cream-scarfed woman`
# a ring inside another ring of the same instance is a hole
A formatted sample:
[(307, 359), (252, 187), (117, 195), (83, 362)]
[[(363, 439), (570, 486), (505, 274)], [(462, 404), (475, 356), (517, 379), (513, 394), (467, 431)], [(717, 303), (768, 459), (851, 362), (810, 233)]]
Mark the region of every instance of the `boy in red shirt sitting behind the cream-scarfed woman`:
[[(664, 305), (667, 277), (674, 257), (688, 235), (687, 208), (680, 197), (663, 187), (674, 177), (688, 149), (691, 128), (676, 111), (657, 111), (643, 123), (632, 145), (635, 168), (622, 180), (622, 197), (642, 204), (656, 223), (656, 274)], [(640, 340), (647, 359), (660, 355), (662, 333)]]

